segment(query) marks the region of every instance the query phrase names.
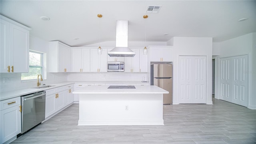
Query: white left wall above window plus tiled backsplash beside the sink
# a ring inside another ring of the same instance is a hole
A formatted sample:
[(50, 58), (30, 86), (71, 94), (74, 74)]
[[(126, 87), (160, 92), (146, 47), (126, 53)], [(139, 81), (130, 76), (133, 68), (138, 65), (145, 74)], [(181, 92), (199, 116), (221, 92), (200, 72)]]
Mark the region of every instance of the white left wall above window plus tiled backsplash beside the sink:
[[(49, 52), (49, 44), (47, 41), (41, 38), (30, 35), (30, 50), (46, 53), (46, 57), (47, 57), (47, 54)], [(4, 78), (10, 78), (10, 82), (3, 83)], [(41, 82), (41, 84), (52, 84), (52, 83), (66, 81), (66, 80), (67, 80), (67, 74), (47, 73), (47, 80), (44, 79)], [(29, 82), (21, 82), (21, 73), (1, 73), (0, 75), (1, 92), (18, 90), (22, 88), (36, 87), (36, 83), (37, 83), (37, 80), (33, 80)]]

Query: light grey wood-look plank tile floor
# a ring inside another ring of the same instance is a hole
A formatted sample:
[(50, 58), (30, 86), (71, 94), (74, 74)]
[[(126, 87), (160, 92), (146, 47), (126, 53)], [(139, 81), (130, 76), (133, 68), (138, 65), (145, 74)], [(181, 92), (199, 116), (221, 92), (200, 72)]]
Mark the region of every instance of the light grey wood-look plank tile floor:
[(213, 102), (164, 105), (163, 126), (77, 126), (72, 104), (12, 144), (256, 144), (256, 110)]

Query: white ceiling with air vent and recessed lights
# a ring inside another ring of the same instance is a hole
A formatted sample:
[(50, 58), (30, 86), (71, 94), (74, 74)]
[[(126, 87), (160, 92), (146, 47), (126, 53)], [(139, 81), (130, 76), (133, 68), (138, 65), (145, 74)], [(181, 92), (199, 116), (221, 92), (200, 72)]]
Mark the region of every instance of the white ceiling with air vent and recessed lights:
[[(221, 42), (256, 32), (256, 1), (1, 0), (0, 4), (3, 16), (32, 28), (33, 36), (70, 46), (115, 41), (116, 20), (128, 20), (128, 41), (145, 41), (145, 29), (146, 41), (152, 42), (174, 36), (212, 37), (213, 42)], [(151, 5), (162, 7), (144, 19)], [(241, 18), (248, 20), (238, 22)]]

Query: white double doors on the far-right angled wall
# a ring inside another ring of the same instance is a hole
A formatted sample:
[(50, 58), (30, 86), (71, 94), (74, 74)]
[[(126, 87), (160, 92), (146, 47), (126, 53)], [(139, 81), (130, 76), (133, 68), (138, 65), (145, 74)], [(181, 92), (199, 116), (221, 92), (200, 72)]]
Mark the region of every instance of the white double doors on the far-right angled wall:
[(247, 107), (248, 55), (220, 58), (220, 99)]

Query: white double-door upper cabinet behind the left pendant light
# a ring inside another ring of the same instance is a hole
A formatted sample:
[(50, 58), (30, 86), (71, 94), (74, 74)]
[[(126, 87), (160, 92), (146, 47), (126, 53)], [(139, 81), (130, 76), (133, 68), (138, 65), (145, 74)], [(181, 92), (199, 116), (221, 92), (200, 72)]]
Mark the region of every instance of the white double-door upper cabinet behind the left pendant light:
[(90, 72), (107, 72), (107, 50), (102, 49), (98, 54), (97, 48), (90, 49)]

